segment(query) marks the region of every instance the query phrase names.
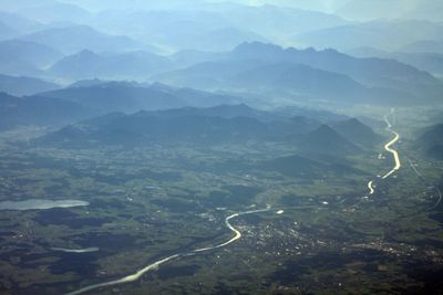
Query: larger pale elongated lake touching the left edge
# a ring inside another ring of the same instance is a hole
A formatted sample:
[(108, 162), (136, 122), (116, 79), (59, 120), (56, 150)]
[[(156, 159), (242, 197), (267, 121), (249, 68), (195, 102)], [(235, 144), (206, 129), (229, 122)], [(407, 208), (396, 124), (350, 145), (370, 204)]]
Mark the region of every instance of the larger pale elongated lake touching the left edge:
[(0, 210), (45, 210), (52, 208), (71, 208), (80, 206), (89, 206), (86, 201), (80, 200), (25, 200), (25, 201), (3, 201), (0, 202)]

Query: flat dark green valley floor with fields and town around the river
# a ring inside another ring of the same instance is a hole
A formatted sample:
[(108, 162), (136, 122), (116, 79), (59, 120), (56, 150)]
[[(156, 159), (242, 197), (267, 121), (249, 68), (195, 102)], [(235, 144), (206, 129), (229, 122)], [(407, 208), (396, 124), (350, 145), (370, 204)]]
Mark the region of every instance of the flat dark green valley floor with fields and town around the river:
[(1, 212), (0, 294), (60, 294), (119, 280), (223, 244), (235, 235), (227, 217), (268, 206), (230, 220), (241, 233), (231, 244), (91, 294), (443, 291), (442, 164), (408, 141), (392, 145), (402, 167), (387, 179), (377, 177), (394, 165), (383, 145), (348, 158), (361, 173), (288, 176), (261, 165), (292, 152), (276, 143), (130, 150), (4, 143), (0, 201), (89, 204)]

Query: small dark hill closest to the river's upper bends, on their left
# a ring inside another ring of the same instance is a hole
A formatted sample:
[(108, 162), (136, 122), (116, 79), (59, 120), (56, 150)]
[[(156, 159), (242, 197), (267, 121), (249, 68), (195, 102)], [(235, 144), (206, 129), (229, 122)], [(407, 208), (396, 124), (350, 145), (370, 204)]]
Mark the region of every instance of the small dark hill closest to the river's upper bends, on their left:
[(372, 147), (383, 140), (382, 136), (356, 118), (334, 123), (332, 128), (349, 141), (362, 147)]

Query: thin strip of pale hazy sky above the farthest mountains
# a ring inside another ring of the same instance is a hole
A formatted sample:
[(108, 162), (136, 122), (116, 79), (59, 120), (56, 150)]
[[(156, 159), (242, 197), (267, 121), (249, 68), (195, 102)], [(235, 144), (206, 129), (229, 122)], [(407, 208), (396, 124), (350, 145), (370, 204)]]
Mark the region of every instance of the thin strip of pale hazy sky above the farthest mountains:
[[(56, 0), (0, 0), (3, 10), (8, 8), (51, 3)], [(443, 0), (58, 0), (78, 4), (89, 10), (97, 11), (109, 8), (167, 8), (187, 6), (198, 9), (204, 2), (236, 2), (260, 6), (276, 4), (282, 7), (317, 10), (336, 13), (344, 19), (368, 21), (372, 19), (422, 19), (443, 21)]]

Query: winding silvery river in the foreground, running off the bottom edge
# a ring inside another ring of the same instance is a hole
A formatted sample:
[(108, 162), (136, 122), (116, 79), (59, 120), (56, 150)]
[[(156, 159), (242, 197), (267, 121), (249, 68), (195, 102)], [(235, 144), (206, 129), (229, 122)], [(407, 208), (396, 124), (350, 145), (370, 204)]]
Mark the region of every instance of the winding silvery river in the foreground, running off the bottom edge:
[(171, 256), (161, 259), (161, 260), (158, 260), (158, 261), (156, 261), (154, 263), (151, 263), (150, 265), (146, 265), (145, 267), (138, 270), (137, 272), (135, 272), (133, 274), (130, 274), (127, 276), (124, 276), (122, 278), (117, 278), (117, 280), (113, 280), (113, 281), (109, 281), (109, 282), (104, 282), (104, 283), (90, 285), (90, 286), (76, 289), (74, 292), (70, 292), (66, 295), (83, 294), (83, 293), (86, 293), (86, 292), (90, 292), (90, 291), (93, 291), (93, 289), (96, 289), (96, 288), (101, 288), (101, 287), (107, 287), (107, 286), (114, 286), (114, 285), (130, 283), (130, 282), (135, 282), (140, 277), (142, 277), (144, 274), (146, 274), (146, 273), (148, 273), (151, 271), (157, 270), (159, 265), (162, 265), (162, 264), (164, 264), (164, 263), (166, 263), (168, 261), (176, 260), (176, 259), (179, 259), (179, 257), (196, 255), (198, 253), (203, 253), (203, 252), (207, 252), (207, 251), (212, 251), (212, 250), (216, 250), (216, 249), (220, 249), (220, 247), (227, 246), (227, 245), (236, 242), (237, 240), (241, 239), (241, 232), (239, 230), (237, 230), (236, 228), (234, 228), (233, 224), (230, 224), (230, 220), (231, 219), (235, 219), (235, 218), (240, 217), (240, 215), (254, 214), (254, 213), (265, 212), (265, 211), (269, 211), (269, 210), (270, 210), (270, 207), (267, 207), (265, 209), (250, 210), (250, 211), (234, 213), (234, 214), (227, 217), (225, 219), (225, 225), (231, 232), (234, 232), (234, 236), (231, 239), (229, 239), (228, 241), (226, 241), (226, 242), (223, 242), (223, 243), (217, 244), (217, 245), (196, 249), (196, 250), (193, 250), (193, 251), (186, 252), (186, 253), (176, 253), (176, 254), (173, 254)]

